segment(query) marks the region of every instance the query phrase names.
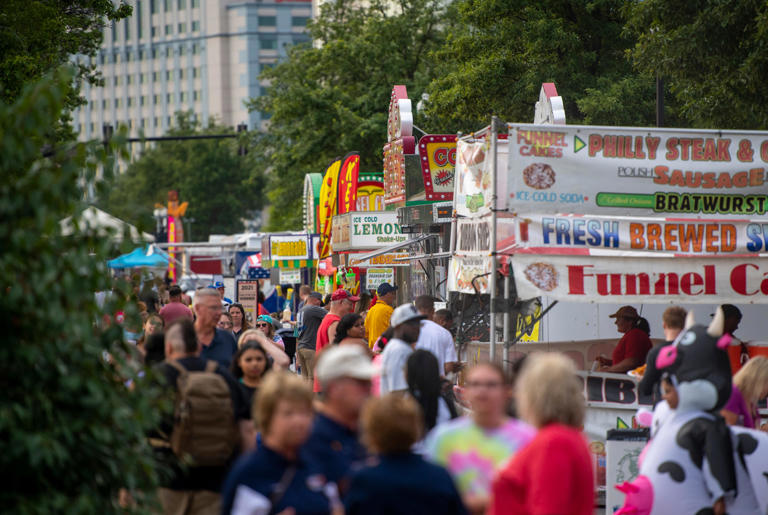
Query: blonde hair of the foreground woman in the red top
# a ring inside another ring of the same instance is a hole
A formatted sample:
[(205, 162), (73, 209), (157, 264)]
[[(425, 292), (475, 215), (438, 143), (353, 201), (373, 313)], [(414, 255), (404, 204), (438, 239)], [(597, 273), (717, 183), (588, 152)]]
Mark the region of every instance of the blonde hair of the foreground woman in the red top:
[(559, 352), (529, 355), (515, 388), (523, 416), (533, 425), (577, 429), (584, 424), (583, 390), (573, 362)]

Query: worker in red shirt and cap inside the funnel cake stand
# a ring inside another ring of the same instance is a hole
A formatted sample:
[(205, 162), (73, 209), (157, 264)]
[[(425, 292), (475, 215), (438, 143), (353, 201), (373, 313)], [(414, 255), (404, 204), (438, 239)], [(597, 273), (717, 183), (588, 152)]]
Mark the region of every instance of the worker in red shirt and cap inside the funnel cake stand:
[[(645, 363), (645, 357), (653, 343), (649, 337), (648, 321), (640, 317), (632, 306), (622, 306), (611, 318), (616, 319), (616, 329), (624, 333), (624, 336), (613, 349), (610, 360), (597, 358), (601, 365), (598, 370), (620, 374)], [(646, 328), (648, 330), (645, 330)]]

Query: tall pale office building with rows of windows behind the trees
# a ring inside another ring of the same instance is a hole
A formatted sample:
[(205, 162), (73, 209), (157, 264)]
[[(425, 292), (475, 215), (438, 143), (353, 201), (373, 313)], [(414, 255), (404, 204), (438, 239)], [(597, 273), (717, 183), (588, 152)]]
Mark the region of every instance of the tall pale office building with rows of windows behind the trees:
[(311, 0), (128, 1), (133, 15), (105, 28), (95, 57), (80, 57), (104, 78), (82, 87), (87, 104), (73, 113), (80, 139), (100, 139), (104, 124), (161, 136), (177, 111), (203, 125), (264, 127), (269, 114), (249, 113), (245, 101), (263, 93), (263, 69), (309, 41)]

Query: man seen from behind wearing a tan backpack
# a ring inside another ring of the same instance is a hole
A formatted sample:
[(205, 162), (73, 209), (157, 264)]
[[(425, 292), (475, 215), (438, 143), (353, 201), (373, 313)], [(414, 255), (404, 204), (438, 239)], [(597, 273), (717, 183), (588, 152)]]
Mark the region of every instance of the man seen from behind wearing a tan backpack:
[(174, 389), (174, 413), (164, 421), (160, 438), (150, 440), (172, 470), (159, 491), (163, 513), (218, 514), (222, 483), (239, 450), (250, 407), (232, 375), (200, 357), (190, 320), (168, 328), (165, 357), (159, 371)]

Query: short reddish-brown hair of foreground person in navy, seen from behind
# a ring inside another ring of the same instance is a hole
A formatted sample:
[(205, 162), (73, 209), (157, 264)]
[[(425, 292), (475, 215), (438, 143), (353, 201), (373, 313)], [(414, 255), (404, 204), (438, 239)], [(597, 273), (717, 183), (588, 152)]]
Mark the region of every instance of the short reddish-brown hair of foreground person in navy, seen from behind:
[(424, 431), (421, 408), (411, 397), (372, 397), (363, 408), (363, 441), (377, 454), (407, 452)]

